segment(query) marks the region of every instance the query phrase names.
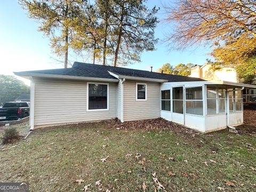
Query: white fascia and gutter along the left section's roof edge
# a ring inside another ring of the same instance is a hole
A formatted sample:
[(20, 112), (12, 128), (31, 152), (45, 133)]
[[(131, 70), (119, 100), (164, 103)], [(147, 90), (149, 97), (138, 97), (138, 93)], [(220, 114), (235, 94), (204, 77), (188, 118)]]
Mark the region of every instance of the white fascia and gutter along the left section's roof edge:
[(20, 77), (45, 77), (45, 78), (58, 78), (58, 79), (75, 79), (75, 80), (83, 80), (83, 81), (97, 81), (97, 82), (118, 82), (118, 79), (110, 79), (110, 78), (98, 78), (98, 77), (78, 77), (78, 76), (70, 76), (70, 75), (51, 75), (51, 74), (35, 74), (35, 73), (22, 73), (22, 72), (13, 72), (15, 75)]

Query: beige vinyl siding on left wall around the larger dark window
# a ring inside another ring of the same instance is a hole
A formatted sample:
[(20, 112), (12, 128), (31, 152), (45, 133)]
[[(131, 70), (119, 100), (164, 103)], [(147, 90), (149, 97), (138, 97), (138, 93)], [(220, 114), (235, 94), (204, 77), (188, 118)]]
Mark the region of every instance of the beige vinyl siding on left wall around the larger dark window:
[(35, 126), (116, 117), (116, 83), (109, 83), (109, 110), (86, 111), (85, 81), (35, 79)]

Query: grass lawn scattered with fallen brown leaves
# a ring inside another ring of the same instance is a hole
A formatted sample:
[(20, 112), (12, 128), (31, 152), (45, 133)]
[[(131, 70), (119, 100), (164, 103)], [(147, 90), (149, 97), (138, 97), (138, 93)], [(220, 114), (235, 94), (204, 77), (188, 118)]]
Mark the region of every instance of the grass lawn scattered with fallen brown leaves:
[(143, 182), (145, 191), (255, 191), (256, 127), (238, 130), (191, 134), (101, 123), (37, 129), (28, 141), (0, 146), (0, 181), (28, 181), (30, 191), (89, 184), (87, 191), (143, 191)]

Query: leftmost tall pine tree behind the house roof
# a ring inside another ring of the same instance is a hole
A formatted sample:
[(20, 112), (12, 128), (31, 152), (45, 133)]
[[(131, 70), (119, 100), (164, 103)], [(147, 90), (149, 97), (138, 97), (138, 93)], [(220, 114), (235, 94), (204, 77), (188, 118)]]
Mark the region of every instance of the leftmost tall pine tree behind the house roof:
[(28, 11), (29, 17), (39, 21), (38, 28), (50, 37), (54, 52), (65, 55), (64, 68), (68, 65), (68, 50), (71, 42), (71, 26), (79, 12), (79, 6), (85, 0), (19, 0), (22, 8)]

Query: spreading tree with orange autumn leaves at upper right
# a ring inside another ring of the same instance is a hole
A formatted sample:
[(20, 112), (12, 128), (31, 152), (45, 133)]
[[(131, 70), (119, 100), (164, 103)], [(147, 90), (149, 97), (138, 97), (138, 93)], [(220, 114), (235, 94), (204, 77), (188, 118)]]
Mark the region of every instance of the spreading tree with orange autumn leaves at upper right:
[(251, 0), (180, 0), (165, 6), (167, 22), (175, 22), (166, 41), (175, 49), (198, 43), (217, 45), (219, 61), (237, 65), (256, 50), (256, 3)]

